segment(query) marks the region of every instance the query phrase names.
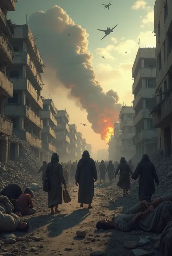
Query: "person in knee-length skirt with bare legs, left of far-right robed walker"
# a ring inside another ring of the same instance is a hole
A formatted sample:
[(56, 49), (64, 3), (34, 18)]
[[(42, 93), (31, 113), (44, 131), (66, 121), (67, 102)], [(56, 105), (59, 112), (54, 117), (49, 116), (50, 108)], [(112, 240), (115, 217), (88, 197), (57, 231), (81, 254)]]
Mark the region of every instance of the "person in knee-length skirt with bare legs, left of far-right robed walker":
[(117, 186), (123, 189), (123, 196), (126, 196), (128, 195), (128, 190), (131, 189), (130, 174), (132, 175), (132, 171), (130, 169), (129, 164), (126, 163), (126, 159), (124, 157), (120, 159), (120, 164), (118, 164), (118, 167), (115, 172), (115, 178), (118, 172), (119, 172), (119, 181), (117, 183)]

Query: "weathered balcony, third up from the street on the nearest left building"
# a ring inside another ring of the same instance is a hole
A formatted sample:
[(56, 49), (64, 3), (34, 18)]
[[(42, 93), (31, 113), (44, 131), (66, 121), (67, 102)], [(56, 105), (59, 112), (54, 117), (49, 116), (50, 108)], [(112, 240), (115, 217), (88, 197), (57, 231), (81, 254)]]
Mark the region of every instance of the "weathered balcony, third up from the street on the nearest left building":
[(1, 59), (7, 64), (13, 64), (13, 48), (9, 43), (8, 39), (4, 36), (4, 34), (0, 31), (0, 54)]

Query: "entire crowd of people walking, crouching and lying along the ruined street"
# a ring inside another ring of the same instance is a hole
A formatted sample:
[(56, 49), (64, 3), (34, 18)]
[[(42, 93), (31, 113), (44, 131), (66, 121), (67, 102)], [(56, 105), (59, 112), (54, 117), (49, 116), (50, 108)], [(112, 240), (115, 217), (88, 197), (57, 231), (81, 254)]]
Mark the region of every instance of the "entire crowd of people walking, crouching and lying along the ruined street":
[[(94, 197), (94, 183), (100, 175), (100, 182), (105, 182), (106, 173), (109, 182), (112, 182), (119, 175), (116, 184), (123, 190), (123, 196), (128, 195), (130, 190), (130, 180), (139, 178), (139, 203), (123, 214), (114, 216), (112, 220), (99, 220), (96, 224), (97, 229), (115, 228), (120, 231), (131, 231), (132, 229), (142, 229), (160, 233), (163, 230), (162, 248), (169, 251), (171, 243), (166, 243), (169, 231), (172, 231), (172, 194), (153, 199), (152, 194), (155, 191), (155, 183), (159, 185), (155, 166), (151, 163), (147, 154), (139, 162), (134, 170), (132, 161), (128, 162), (124, 157), (120, 163), (108, 162), (101, 163), (90, 158), (89, 152), (84, 151), (82, 158), (77, 162), (60, 163), (57, 153), (53, 153), (50, 163), (46, 161), (38, 170), (42, 172), (43, 190), (48, 192), (48, 207), (51, 214), (60, 212), (59, 204), (62, 204), (62, 184), (67, 189), (69, 177), (75, 178), (75, 185), (78, 188), (78, 203), (80, 207), (84, 204), (92, 208)], [(154, 182), (155, 181), (155, 182)], [(48, 184), (48, 188), (45, 184)], [(34, 214), (32, 198), (34, 194), (30, 188), (23, 191), (18, 184), (10, 184), (0, 192), (0, 231), (28, 231), (29, 224), (22, 221), (21, 216)], [(167, 245), (168, 244), (168, 245)], [(164, 249), (162, 249), (163, 252)], [(164, 254), (166, 256), (166, 254)]]

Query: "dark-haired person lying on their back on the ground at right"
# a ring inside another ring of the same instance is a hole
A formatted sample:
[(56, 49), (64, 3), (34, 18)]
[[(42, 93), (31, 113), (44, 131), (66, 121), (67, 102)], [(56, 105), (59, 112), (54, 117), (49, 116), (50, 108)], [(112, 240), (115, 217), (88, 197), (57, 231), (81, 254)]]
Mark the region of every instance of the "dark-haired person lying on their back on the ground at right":
[[(149, 210), (145, 212), (140, 211), (143, 206)], [(142, 201), (124, 212), (124, 214), (115, 216), (112, 220), (100, 220), (96, 224), (96, 228), (115, 228), (123, 232), (128, 232), (132, 229), (142, 229), (148, 232), (161, 233), (171, 221), (172, 194), (169, 194), (162, 196), (160, 199), (154, 199), (150, 205), (146, 201)]]

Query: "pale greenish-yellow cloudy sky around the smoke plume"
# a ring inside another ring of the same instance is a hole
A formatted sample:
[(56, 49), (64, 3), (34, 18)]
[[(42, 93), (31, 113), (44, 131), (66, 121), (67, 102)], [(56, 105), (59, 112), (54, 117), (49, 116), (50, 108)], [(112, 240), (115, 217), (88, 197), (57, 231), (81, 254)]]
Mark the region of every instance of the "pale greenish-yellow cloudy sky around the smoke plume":
[[(145, 45), (146, 47), (156, 46), (156, 37), (152, 33), (155, 0), (112, 0), (110, 11), (102, 7), (102, 4), (108, 4), (108, 0), (17, 0), (17, 2), (16, 11), (9, 12), (8, 18), (14, 21), (15, 24), (25, 24), (27, 15), (27, 22), (30, 22), (30, 28), (35, 32), (33, 34), (38, 38), (36, 42), (39, 41), (40, 31), (37, 31), (36, 28), (40, 29), (40, 27), (37, 26), (37, 22), (34, 23), (36, 20), (33, 13), (37, 11), (47, 12), (55, 5), (61, 7), (75, 24), (86, 29), (86, 33), (89, 34), (87, 37), (88, 50), (92, 54), (91, 65), (103, 92), (106, 93), (112, 89), (118, 93), (118, 103), (124, 103), (127, 106), (132, 105), (134, 97), (132, 96), (131, 69), (138, 51), (139, 38), (141, 47), (145, 47)], [(29, 18), (30, 16), (31, 18)], [(44, 23), (44, 20), (42, 23)], [(118, 26), (114, 29), (114, 32), (101, 40), (104, 34), (97, 29), (112, 28), (117, 24)], [(41, 26), (41, 24), (39, 25)], [(46, 33), (48, 32), (46, 32), (46, 29), (44, 31), (46, 42)], [(41, 32), (40, 38), (42, 45), (45, 44)], [(63, 48), (63, 44), (60, 47)], [(38, 50), (42, 54), (43, 60), (45, 56), (47, 61), (45, 47), (41, 47), (40, 41), (38, 42)], [(125, 53), (126, 51), (127, 53)], [(102, 59), (102, 55), (105, 55), (105, 59)], [(87, 120), (89, 110), (86, 112), (83, 107), (81, 110), (81, 105), (78, 105), (78, 102), (76, 103), (75, 98), (69, 97), (70, 89), (64, 86), (64, 80), (56, 80), (57, 73), (55, 77), (54, 72), (57, 70), (52, 72), (52, 67), (48, 61), (45, 65), (45, 74), (42, 76), (44, 82), (42, 96), (45, 98), (52, 97), (57, 109), (66, 109), (70, 116), (70, 123), (77, 125), (78, 131), (82, 133), (87, 143), (92, 145), (93, 152), (98, 149), (107, 149), (106, 142), (91, 129), (91, 123)], [(55, 90), (51, 89), (51, 84), (58, 84)], [(117, 115), (115, 117), (118, 121)], [(80, 122), (86, 123), (87, 126), (83, 127)], [(98, 131), (97, 128), (94, 130)]]

